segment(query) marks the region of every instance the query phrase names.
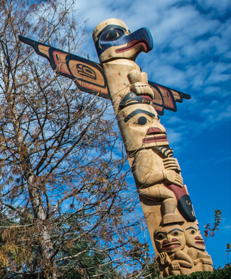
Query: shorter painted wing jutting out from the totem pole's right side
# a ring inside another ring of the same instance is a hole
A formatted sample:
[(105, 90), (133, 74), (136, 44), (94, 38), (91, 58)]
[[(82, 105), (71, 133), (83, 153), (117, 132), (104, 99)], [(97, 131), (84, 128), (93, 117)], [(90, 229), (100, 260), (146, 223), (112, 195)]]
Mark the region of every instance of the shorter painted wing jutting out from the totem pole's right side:
[(148, 81), (148, 84), (152, 87), (153, 92), (155, 94), (155, 98), (152, 100), (153, 107), (160, 115), (164, 115), (164, 109), (177, 111), (176, 102), (182, 103), (183, 99), (191, 98), (191, 96), (188, 94), (157, 83)]

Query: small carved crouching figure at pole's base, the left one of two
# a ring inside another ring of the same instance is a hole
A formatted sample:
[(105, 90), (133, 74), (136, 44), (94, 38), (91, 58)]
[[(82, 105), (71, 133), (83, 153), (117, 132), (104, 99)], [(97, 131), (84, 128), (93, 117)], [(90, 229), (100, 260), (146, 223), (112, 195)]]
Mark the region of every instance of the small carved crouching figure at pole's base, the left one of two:
[(153, 237), (159, 252), (157, 261), (163, 277), (196, 271), (191, 257), (187, 254), (185, 235), (180, 225), (158, 227)]

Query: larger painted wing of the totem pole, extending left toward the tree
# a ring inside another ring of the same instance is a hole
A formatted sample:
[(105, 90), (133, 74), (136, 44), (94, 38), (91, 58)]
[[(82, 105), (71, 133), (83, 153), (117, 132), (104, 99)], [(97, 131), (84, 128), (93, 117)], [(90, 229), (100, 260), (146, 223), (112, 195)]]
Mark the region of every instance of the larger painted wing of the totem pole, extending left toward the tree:
[(80, 90), (91, 94), (99, 93), (101, 97), (110, 99), (100, 64), (23, 36), (18, 37), (23, 43), (32, 46), (38, 55), (46, 57), (57, 74), (73, 79)]

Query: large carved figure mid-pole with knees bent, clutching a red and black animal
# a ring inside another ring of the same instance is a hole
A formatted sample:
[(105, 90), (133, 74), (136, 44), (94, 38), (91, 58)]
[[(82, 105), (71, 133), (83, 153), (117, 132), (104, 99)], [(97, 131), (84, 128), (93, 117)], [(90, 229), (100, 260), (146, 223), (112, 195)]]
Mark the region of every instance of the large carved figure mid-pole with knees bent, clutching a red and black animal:
[[(141, 198), (162, 202), (162, 224), (184, 222), (180, 215), (175, 214), (177, 205), (181, 204), (180, 197), (187, 195), (181, 170), (176, 158), (166, 155), (169, 152), (172, 154), (166, 131), (150, 103), (146, 95), (137, 96), (133, 92), (122, 99), (118, 123), (123, 141), (126, 151), (134, 156), (132, 172)], [(195, 221), (191, 204), (187, 207), (190, 209), (186, 218)], [(185, 217), (185, 214), (182, 215)]]

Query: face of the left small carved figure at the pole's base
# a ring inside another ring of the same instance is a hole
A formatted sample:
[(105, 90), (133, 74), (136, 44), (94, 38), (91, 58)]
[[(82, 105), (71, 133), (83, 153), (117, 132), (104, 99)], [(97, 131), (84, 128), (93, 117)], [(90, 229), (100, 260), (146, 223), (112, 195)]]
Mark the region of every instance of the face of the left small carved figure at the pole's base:
[(176, 252), (185, 247), (184, 231), (179, 225), (159, 227), (154, 232), (154, 241), (159, 253)]

